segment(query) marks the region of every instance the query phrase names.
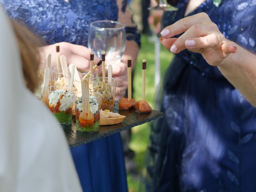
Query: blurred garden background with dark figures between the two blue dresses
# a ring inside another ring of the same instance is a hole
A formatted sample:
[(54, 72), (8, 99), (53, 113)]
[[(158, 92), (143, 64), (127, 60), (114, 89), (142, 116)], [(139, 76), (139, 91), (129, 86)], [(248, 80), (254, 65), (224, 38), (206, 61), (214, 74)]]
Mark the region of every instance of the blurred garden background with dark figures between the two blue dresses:
[[(142, 1), (143, 6), (142, 6)], [(133, 96), (136, 100), (142, 98), (142, 59), (147, 60), (146, 70), (146, 100), (155, 109), (156, 94), (159, 90), (155, 87), (155, 46), (158, 41), (155, 34), (160, 32), (160, 23), (158, 22), (161, 17), (161, 11), (150, 11), (149, 18), (145, 19), (145, 11), (148, 6), (152, 6), (154, 2), (150, 0), (133, 0), (130, 3), (130, 9), (134, 13), (134, 22), (137, 24), (141, 34), (141, 48), (137, 58), (136, 66), (134, 68), (134, 92)], [(142, 8), (144, 9), (144, 27), (142, 22)], [(146, 13), (147, 14), (147, 13)], [(146, 15), (147, 17), (147, 15)], [(149, 26), (146, 26), (145, 21), (149, 20)], [(162, 79), (164, 72), (172, 60), (172, 54), (166, 50), (163, 46), (160, 46), (160, 84), (162, 86)], [(127, 169), (127, 181), (129, 192), (139, 192), (140, 177), (142, 174), (142, 167), (144, 162), (144, 155), (149, 143), (150, 123), (143, 124), (132, 128), (132, 136), (129, 147), (134, 151), (134, 157), (132, 158), (132, 165), (126, 161)]]

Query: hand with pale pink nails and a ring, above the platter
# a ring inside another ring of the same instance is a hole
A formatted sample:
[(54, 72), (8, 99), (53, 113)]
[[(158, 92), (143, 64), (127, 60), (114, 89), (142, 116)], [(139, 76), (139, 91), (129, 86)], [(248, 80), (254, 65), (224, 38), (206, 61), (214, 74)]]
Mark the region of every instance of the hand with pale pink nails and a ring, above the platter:
[[(183, 33), (183, 34), (182, 34)], [(182, 34), (179, 38), (172, 38)], [(164, 28), (160, 42), (172, 53), (184, 49), (201, 53), (208, 64), (220, 66), (237, 51), (234, 42), (227, 40), (206, 13), (183, 18)]]

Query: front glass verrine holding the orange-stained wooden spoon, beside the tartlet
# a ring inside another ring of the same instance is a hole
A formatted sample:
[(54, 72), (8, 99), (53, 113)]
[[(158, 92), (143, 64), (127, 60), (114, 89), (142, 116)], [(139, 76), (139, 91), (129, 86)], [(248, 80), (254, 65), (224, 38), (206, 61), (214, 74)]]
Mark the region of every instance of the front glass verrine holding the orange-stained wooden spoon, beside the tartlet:
[[(76, 92), (75, 98), (75, 110), (76, 110), (76, 129), (80, 132), (96, 132), (100, 126), (100, 106), (102, 102), (102, 94), (98, 92), (89, 92), (89, 98), (82, 99), (82, 92)], [(84, 120), (80, 114), (83, 112), (83, 101), (89, 102), (90, 112), (93, 114), (93, 118), (90, 120)]]

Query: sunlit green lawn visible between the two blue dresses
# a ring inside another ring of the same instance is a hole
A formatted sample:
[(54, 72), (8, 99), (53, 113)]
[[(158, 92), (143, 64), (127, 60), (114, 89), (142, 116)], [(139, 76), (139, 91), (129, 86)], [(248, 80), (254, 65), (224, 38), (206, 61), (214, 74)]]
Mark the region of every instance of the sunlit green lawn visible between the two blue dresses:
[[(141, 37), (141, 49), (137, 58), (135, 74), (134, 74), (134, 98), (141, 100), (142, 98), (142, 59), (147, 60), (146, 70), (146, 100), (154, 109), (154, 43), (149, 41), (149, 36), (142, 35)], [(161, 80), (164, 76), (164, 71), (172, 60), (172, 54), (161, 46)], [(132, 128), (132, 141), (130, 148), (135, 151), (136, 155), (134, 161), (138, 164), (138, 172), (142, 170), (142, 162), (144, 160), (144, 154), (148, 145), (148, 137), (150, 134), (149, 123)], [(130, 192), (138, 192), (140, 180), (138, 177), (134, 178), (131, 174), (127, 175), (128, 188)]]

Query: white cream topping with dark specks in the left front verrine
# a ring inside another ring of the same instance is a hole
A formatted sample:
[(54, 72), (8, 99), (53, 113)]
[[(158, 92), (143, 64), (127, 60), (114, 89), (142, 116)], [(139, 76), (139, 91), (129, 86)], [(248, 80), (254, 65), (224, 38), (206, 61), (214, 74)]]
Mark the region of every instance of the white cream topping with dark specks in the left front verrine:
[[(61, 96), (64, 96), (61, 98)], [(74, 96), (70, 92), (67, 92), (64, 89), (56, 90), (51, 92), (49, 95), (49, 106), (56, 106), (58, 101), (60, 101), (60, 111), (66, 111), (72, 103), (74, 102)], [(61, 99), (60, 99), (61, 98)]]

